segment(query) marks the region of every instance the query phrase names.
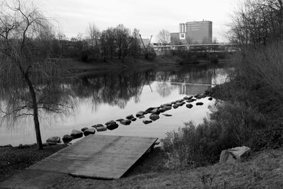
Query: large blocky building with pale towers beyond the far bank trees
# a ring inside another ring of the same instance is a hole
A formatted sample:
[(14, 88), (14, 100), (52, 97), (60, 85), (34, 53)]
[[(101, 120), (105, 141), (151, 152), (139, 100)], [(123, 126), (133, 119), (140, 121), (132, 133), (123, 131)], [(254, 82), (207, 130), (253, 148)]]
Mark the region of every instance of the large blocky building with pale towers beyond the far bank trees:
[(212, 21), (179, 24), (179, 32), (171, 33), (171, 45), (212, 43)]

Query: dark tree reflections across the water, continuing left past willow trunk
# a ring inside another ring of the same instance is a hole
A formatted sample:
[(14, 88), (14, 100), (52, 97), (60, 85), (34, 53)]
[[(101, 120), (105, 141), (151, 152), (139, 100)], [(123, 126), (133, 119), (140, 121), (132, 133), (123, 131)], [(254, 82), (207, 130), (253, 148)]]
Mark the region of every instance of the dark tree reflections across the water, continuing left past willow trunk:
[[(200, 93), (212, 87), (212, 81), (215, 82), (217, 74), (219, 69), (214, 68), (175, 67), (164, 71), (147, 69), (119, 74), (87, 75), (65, 79), (64, 83), (56, 84), (52, 88), (40, 84), (37, 86), (37, 99), (41, 107), (41, 119), (54, 119), (54, 114), (48, 109), (57, 110), (57, 104), (61, 108), (64, 105), (57, 113), (72, 115), (71, 108), (75, 108), (76, 112), (76, 107), (88, 99), (91, 99), (89, 105), (95, 111), (98, 111), (101, 104), (123, 109), (131, 99), (139, 103), (144, 86), (151, 88), (154, 82), (157, 82), (156, 91), (163, 98), (169, 96), (175, 88), (179, 88), (179, 93), (184, 95)], [(152, 88), (151, 92), (154, 93)], [(1, 88), (1, 107), (12, 107), (15, 103), (28, 101), (25, 93), (27, 89), (21, 86)]]

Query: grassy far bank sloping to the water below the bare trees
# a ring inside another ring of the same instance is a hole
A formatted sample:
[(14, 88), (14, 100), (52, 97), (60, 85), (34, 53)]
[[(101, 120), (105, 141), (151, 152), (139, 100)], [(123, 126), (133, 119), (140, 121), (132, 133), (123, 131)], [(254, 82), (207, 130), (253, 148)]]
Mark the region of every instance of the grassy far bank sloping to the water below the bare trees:
[(198, 66), (203, 64), (225, 64), (226, 59), (219, 60), (218, 63), (212, 63), (210, 61), (200, 61), (183, 63), (178, 60), (177, 57), (164, 57), (157, 56), (154, 60), (148, 60), (144, 57), (134, 58), (125, 57), (124, 62), (120, 62), (120, 59), (114, 57), (113, 59), (107, 59), (103, 62), (102, 59), (97, 59), (93, 62), (81, 62), (76, 59), (52, 59), (56, 64), (59, 64), (63, 69), (68, 69), (71, 73), (76, 75), (88, 75), (88, 74), (105, 74), (105, 73), (119, 73), (120, 71), (142, 71), (144, 69), (170, 69), (172, 67), (182, 66)]

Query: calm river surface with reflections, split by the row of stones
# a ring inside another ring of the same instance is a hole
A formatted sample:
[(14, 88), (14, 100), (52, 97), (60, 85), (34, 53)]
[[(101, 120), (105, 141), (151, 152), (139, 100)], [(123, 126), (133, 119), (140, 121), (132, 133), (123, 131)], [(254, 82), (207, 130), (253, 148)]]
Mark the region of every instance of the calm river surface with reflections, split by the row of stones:
[[(45, 116), (40, 120), (42, 142), (48, 137), (70, 134), (71, 130), (81, 130), (98, 123), (135, 115), (140, 110), (176, 101), (184, 96), (203, 93), (215, 84), (224, 82), (224, 69), (209, 67), (175, 67), (165, 70), (147, 69), (143, 71), (120, 71), (119, 74), (83, 76), (70, 81), (67, 86), (76, 94), (74, 111), (62, 118)], [(137, 119), (131, 125), (121, 125), (117, 130), (98, 132), (121, 136), (165, 137), (166, 132), (183, 127), (184, 122), (192, 120), (200, 123), (209, 113), (208, 106), (214, 101), (201, 99), (204, 105), (188, 109), (183, 105), (168, 110), (173, 115), (144, 125)], [(29, 119), (18, 120), (13, 127), (0, 127), (0, 145), (35, 143), (33, 122)]]

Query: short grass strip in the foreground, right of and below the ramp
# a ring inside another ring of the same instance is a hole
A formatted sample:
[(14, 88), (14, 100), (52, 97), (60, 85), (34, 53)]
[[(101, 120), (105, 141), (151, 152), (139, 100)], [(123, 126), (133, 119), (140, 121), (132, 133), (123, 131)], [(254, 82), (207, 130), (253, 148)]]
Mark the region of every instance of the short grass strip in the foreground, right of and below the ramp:
[(162, 169), (116, 181), (64, 176), (53, 188), (283, 188), (282, 157), (283, 149), (262, 151), (236, 165)]

